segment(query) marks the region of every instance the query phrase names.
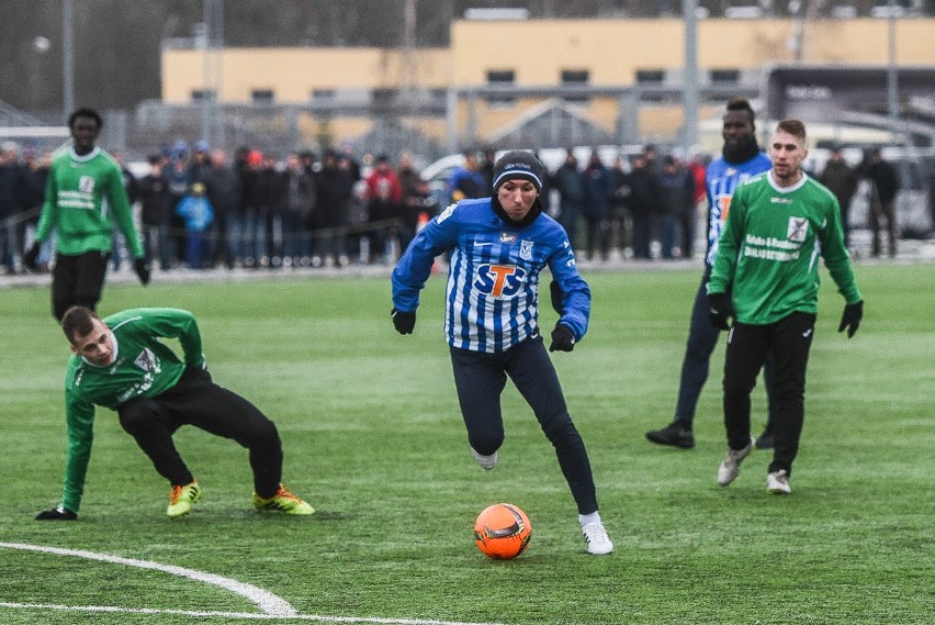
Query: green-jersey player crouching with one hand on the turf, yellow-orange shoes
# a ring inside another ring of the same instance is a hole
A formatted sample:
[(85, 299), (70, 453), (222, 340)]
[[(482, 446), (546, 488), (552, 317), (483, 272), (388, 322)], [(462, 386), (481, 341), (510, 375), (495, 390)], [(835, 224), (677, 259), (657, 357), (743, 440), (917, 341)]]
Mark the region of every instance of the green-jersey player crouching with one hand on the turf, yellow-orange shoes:
[[(131, 309), (101, 320), (89, 308), (71, 306), (61, 330), (75, 354), (65, 377), (65, 492), (57, 507), (41, 512), (36, 520), (77, 518), (97, 405), (116, 411), (121, 426), (169, 481), (170, 518), (188, 514), (201, 498), (201, 487), (172, 443), (182, 425), (232, 438), (249, 449), (258, 510), (315, 512), (280, 482), (282, 443), (275, 424), (252, 403), (212, 381), (192, 313)], [(176, 356), (164, 338), (178, 339), (183, 357)]]

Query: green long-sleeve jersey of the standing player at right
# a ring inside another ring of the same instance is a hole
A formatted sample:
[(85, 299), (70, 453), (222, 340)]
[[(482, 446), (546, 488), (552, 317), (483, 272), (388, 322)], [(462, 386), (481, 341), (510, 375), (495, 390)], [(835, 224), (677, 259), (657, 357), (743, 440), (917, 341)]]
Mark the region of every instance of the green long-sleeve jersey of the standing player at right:
[(767, 171), (734, 192), (708, 293), (730, 292), (740, 323), (816, 313), (819, 256), (845, 301), (860, 301), (834, 194), (804, 172), (782, 188)]

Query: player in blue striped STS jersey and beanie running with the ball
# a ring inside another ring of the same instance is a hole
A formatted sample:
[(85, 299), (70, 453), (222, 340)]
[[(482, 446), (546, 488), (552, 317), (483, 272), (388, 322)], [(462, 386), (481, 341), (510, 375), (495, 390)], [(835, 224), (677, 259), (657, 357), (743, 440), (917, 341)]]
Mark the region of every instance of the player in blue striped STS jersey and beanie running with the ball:
[(574, 349), (590, 314), (590, 289), (565, 231), (542, 212), (544, 175), (532, 153), (508, 152), (494, 165), (492, 198), (462, 200), (430, 221), (393, 270), (393, 324), (412, 334), (419, 291), (436, 256), (450, 250), (444, 330), (475, 460), (488, 470), (497, 464), (500, 393), (509, 377), (555, 448), (588, 553), (606, 555), (613, 544), (598, 512), (590, 461), (539, 333), (539, 276), (547, 267), (561, 309), (549, 351)]

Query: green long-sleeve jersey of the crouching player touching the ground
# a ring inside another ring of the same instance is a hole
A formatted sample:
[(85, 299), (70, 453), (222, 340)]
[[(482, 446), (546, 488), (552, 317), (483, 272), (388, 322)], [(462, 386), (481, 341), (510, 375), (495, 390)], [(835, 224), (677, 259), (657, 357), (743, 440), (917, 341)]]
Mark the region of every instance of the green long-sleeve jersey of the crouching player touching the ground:
[[(204, 367), (201, 334), (192, 313), (178, 309), (131, 309), (103, 320), (111, 328), (115, 360), (108, 367), (75, 355), (65, 376), (68, 458), (63, 505), (78, 512), (91, 458), (94, 406), (116, 410), (143, 395), (156, 397), (178, 383), (185, 367)], [(180, 359), (160, 338), (177, 338)]]

